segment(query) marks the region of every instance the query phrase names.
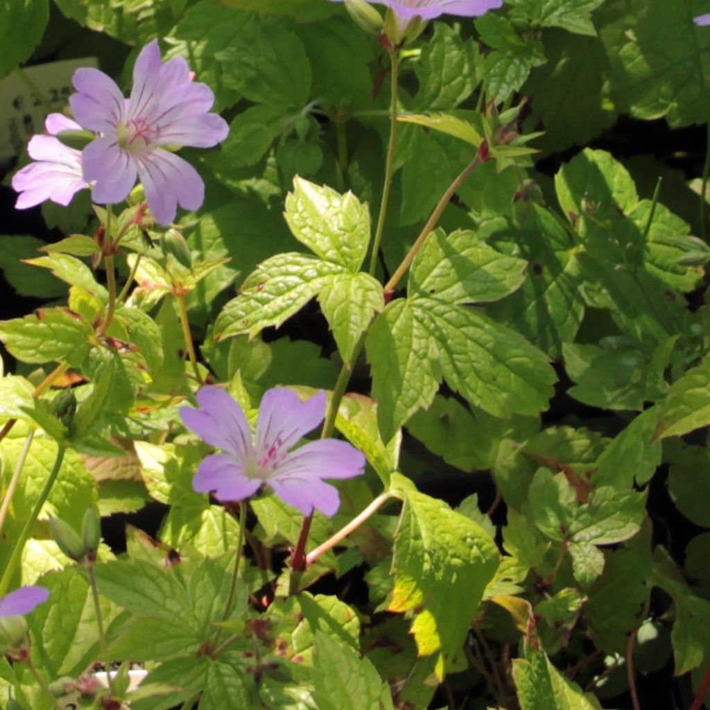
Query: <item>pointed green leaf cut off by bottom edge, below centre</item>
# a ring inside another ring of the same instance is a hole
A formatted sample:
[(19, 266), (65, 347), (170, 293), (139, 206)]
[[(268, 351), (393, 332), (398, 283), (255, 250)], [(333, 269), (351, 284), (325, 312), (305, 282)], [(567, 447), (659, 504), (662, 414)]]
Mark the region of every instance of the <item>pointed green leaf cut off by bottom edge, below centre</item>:
[(393, 710), (390, 687), (367, 659), (323, 631), (315, 634), (314, 697), (319, 710)]

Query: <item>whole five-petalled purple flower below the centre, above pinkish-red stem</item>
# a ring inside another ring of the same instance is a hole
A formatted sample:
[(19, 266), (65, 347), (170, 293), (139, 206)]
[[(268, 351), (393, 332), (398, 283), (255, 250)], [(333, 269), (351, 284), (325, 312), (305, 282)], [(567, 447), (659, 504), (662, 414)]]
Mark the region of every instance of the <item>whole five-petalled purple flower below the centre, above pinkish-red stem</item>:
[(347, 442), (319, 439), (293, 449), (322, 422), (323, 391), (302, 402), (290, 390), (269, 390), (259, 408), (256, 444), (244, 411), (224, 390), (203, 387), (197, 404), (200, 409), (180, 409), (182, 423), (223, 452), (200, 464), (192, 481), (198, 493), (214, 492), (221, 501), (241, 501), (266, 484), (304, 515), (313, 508), (334, 515), (340, 505), (338, 491), (322, 479), (349, 479), (363, 473), (365, 457)]

